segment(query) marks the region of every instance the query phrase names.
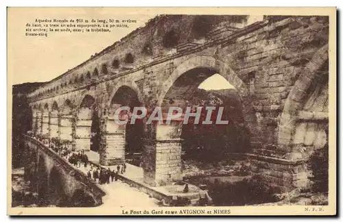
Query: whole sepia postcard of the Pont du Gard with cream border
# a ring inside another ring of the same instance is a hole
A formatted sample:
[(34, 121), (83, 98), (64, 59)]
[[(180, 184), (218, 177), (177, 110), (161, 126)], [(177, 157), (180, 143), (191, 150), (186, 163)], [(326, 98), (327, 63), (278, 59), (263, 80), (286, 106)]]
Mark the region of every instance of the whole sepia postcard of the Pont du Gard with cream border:
[(335, 215), (335, 8), (8, 8), (8, 214)]

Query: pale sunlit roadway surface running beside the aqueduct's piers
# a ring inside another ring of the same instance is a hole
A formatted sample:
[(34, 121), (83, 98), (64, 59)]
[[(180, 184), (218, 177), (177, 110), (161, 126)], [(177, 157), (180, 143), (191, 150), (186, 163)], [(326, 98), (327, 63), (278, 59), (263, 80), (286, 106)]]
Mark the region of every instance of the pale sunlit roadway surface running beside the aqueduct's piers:
[[(53, 156), (54, 161), (58, 166), (65, 165), (69, 168), (73, 168), (73, 171), (82, 175), (84, 180), (88, 180), (89, 184), (97, 186), (106, 195), (102, 197), (102, 204), (98, 207), (109, 207), (109, 206), (158, 206), (161, 200), (164, 200), (166, 205), (172, 203), (173, 199), (189, 199), (191, 204), (197, 204), (200, 197), (199, 188), (189, 184), (189, 193), (183, 193), (185, 185), (167, 185), (160, 187), (153, 187), (143, 182), (143, 169), (136, 167), (132, 164), (126, 164), (126, 172), (119, 174), (119, 181), (110, 182), (110, 184), (97, 184), (94, 180), (86, 179), (86, 174), (91, 170), (91, 164), (102, 167), (103, 169), (110, 169), (117, 171), (117, 165), (114, 166), (102, 166), (99, 164), (99, 153), (95, 151), (86, 151), (85, 154), (88, 156), (89, 162), (86, 167), (81, 164), (80, 167), (75, 167), (67, 161), (67, 158), (62, 158), (53, 149), (50, 149), (47, 145), (41, 143), (35, 138), (25, 136), (30, 141), (35, 142), (39, 145), (40, 150), (45, 152), (47, 156)], [(85, 183), (82, 181), (82, 183)]]

